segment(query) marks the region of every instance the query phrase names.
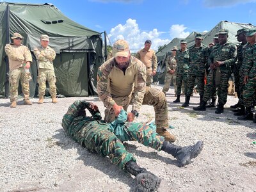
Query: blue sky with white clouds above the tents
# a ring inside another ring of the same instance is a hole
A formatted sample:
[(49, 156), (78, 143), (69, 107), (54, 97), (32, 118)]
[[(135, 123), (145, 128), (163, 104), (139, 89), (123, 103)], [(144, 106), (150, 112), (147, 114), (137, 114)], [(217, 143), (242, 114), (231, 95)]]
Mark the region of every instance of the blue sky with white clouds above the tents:
[(108, 33), (110, 43), (122, 38), (137, 51), (145, 40), (152, 49), (192, 31), (210, 31), (221, 20), (256, 24), (256, 0), (81, 0), (7, 1), (52, 3), (70, 19)]

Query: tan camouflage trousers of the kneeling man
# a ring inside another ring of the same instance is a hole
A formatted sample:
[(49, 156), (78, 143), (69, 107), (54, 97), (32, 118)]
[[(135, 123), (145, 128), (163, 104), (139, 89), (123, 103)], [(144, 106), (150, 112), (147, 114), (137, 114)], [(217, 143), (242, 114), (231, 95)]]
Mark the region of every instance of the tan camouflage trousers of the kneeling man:
[[(125, 97), (112, 97), (115, 100), (118, 106), (123, 106), (124, 110), (127, 111), (129, 104), (131, 104), (132, 99), (134, 98), (134, 94)], [(143, 105), (154, 106), (155, 111), (155, 122), (157, 129), (167, 129), (169, 127), (168, 124), (168, 107), (166, 98), (161, 90), (157, 88), (146, 88), (146, 92), (143, 99)], [(114, 110), (105, 109), (105, 118), (106, 122), (113, 122), (115, 120)]]

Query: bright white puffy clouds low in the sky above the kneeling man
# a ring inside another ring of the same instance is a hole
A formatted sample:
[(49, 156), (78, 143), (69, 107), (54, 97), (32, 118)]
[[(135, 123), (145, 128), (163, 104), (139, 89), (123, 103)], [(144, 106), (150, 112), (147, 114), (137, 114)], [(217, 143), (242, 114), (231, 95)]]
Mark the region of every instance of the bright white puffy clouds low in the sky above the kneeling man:
[(151, 31), (142, 31), (139, 28), (135, 19), (127, 19), (125, 24), (118, 24), (115, 28), (112, 28), (108, 34), (111, 44), (118, 39), (126, 40), (129, 45), (131, 52), (137, 52), (139, 49), (144, 47), (145, 40), (150, 39), (152, 41), (151, 49), (157, 51), (160, 45), (168, 44), (175, 37), (186, 38), (189, 32), (185, 32), (186, 27), (183, 25), (173, 25), (170, 28), (171, 38), (161, 38), (163, 32), (157, 29)]

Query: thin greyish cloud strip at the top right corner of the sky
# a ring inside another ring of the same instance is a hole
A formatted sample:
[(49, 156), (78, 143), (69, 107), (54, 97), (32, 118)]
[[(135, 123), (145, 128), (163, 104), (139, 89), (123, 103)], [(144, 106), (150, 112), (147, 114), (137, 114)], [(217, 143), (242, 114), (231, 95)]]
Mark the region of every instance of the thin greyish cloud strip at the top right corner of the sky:
[(220, 7), (220, 6), (234, 6), (236, 4), (255, 3), (256, 0), (203, 0), (204, 6)]

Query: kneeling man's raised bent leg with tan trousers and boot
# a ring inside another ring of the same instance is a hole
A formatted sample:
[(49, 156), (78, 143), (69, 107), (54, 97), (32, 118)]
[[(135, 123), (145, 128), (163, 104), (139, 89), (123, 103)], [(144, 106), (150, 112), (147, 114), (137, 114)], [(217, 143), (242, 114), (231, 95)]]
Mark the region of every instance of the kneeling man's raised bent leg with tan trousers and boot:
[(175, 136), (166, 130), (169, 124), (168, 107), (164, 93), (156, 88), (146, 88), (142, 104), (154, 106), (157, 133), (163, 136), (166, 141), (174, 142), (176, 140)]

